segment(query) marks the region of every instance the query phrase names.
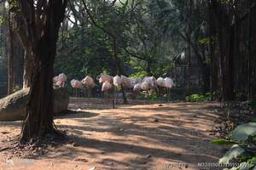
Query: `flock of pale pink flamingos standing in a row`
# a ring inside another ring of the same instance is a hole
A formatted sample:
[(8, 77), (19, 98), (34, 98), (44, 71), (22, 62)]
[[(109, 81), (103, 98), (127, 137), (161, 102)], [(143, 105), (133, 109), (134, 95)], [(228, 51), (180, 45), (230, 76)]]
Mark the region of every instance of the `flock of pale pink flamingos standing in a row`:
[[(105, 94), (108, 94), (113, 88), (117, 90), (121, 88), (125, 90), (131, 89), (134, 93), (145, 91), (149, 94), (152, 90), (158, 90), (159, 88), (171, 89), (174, 87), (174, 82), (170, 77), (159, 77), (157, 79), (155, 77), (132, 78), (123, 75), (112, 77), (108, 74), (101, 74), (96, 77), (96, 80), (102, 84), (102, 92)], [(67, 76), (61, 73), (59, 76), (53, 78), (53, 82), (55, 86), (64, 88), (65, 82), (67, 82)], [(84, 77), (81, 81), (73, 79), (70, 84), (73, 89), (86, 88), (88, 92), (91, 92), (92, 88), (96, 87), (94, 79), (90, 76)]]

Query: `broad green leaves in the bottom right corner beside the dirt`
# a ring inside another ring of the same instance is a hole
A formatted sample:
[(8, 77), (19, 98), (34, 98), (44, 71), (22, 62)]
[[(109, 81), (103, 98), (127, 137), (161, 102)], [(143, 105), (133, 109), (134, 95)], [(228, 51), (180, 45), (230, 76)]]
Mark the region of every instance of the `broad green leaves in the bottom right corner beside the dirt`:
[[(256, 123), (249, 122), (237, 126), (231, 133), (229, 139), (214, 139), (213, 144), (233, 144), (230, 150), (219, 160), (220, 163), (240, 161), (238, 167), (230, 170), (249, 170), (256, 167)], [(228, 170), (228, 168), (225, 168)]]

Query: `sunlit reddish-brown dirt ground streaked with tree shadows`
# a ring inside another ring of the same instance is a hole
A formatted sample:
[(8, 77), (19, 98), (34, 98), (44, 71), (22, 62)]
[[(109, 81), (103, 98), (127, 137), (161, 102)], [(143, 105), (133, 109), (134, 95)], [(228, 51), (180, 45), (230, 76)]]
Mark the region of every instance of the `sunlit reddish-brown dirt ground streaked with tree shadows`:
[[(108, 99), (71, 99), (70, 109), (79, 112), (55, 119), (69, 142), (37, 159), (2, 151), (0, 170), (210, 169), (198, 163), (218, 162), (224, 155), (207, 133), (218, 118), (218, 105), (133, 101), (113, 110)], [(0, 122), (0, 148), (20, 133), (20, 126)]]

